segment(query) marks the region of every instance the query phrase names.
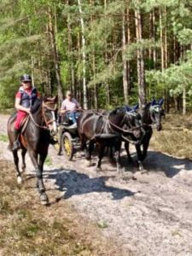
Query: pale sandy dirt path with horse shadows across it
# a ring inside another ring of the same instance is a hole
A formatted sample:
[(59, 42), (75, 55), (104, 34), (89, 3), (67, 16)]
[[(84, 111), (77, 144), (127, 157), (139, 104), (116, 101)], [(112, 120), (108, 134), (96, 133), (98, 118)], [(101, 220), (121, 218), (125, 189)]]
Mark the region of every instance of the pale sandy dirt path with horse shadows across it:
[[(7, 116), (0, 117), (0, 134)], [(7, 143), (0, 142), (0, 158), (12, 160)], [(131, 153), (135, 156), (134, 148)], [(123, 152), (124, 154), (124, 152)], [(67, 161), (49, 148), (51, 165), (45, 167), (47, 188), (57, 189), (82, 218), (96, 223), (103, 236), (112, 237), (125, 255), (192, 255), (192, 163), (167, 154), (148, 152), (148, 173), (127, 166), (119, 177), (108, 159), (103, 172), (87, 167), (83, 158)], [(27, 172), (32, 172), (27, 158)], [(48, 192), (49, 194), (49, 192)], [(105, 254), (103, 254), (105, 255)], [(123, 255), (119, 253), (119, 255)]]

